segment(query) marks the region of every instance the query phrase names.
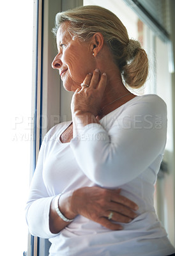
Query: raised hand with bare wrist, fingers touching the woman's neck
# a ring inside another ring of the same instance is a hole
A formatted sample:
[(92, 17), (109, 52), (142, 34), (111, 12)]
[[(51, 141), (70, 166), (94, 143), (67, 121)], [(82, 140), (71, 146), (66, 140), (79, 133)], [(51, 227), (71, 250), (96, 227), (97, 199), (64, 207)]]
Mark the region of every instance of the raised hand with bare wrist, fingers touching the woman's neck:
[(98, 123), (96, 116), (100, 113), (100, 104), (107, 84), (107, 75), (100, 76), (96, 69), (84, 79), (82, 88), (78, 88), (72, 97), (71, 111), (73, 121), (73, 137), (77, 136), (85, 125)]

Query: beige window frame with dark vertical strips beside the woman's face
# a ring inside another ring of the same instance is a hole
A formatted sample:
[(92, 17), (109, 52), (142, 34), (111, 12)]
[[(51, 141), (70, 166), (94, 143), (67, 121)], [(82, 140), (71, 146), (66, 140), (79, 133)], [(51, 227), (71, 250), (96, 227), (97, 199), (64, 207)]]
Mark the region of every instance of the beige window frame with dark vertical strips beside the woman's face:
[[(52, 33), (57, 12), (83, 5), (82, 0), (34, 1), (33, 21), (33, 90), (32, 109), (33, 141), (31, 143), (31, 173), (33, 177), (43, 137), (49, 129), (72, 118), (70, 102), (72, 93), (66, 92), (56, 70), (51, 67), (57, 54), (56, 39)], [(27, 255), (47, 256), (48, 239), (29, 234)]]

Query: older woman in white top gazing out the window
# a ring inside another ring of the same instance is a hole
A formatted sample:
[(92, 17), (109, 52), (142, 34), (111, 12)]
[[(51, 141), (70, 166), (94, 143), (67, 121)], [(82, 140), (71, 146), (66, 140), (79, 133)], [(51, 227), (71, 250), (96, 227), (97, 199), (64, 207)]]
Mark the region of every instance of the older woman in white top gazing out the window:
[(72, 122), (43, 140), (26, 207), (31, 234), (49, 238), (50, 256), (171, 255), (153, 207), (166, 106), (124, 85), (144, 84), (146, 52), (99, 6), (57, 13), (54, 33), (52, 67), (75, 92)]

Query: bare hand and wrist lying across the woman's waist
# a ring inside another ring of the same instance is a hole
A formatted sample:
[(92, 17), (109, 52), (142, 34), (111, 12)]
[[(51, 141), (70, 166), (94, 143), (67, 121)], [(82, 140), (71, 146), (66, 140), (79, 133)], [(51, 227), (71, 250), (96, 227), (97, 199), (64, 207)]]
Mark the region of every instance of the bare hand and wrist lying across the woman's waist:
[[(68, 219), (74, 219), (78, 214), (88, 218), (89, 220), (96, 221), (104, 227), (112, 230), (121, 229), (121, 225), (112, 223), (107, 219), (109, 212), (114, 210), (118, 212), (113, 220), (128, 223), (135, 218), (136, 214), (133, 210), (138, 207), (135, 203), (127, 198), (119, 195), (119, 189), (110, 190), (98, 187), (84, 187), (75, 189), (61, 195), (59, 200), (59, 210)], [(57, 234), (69, 223), (63, 221), (57, 215), (54, 207), (53, 198), (50, 205), (50, 232)], [(109, 211), (110, 209), (110, 211)], [(123, 212), (125, 212), (123, 214)]]

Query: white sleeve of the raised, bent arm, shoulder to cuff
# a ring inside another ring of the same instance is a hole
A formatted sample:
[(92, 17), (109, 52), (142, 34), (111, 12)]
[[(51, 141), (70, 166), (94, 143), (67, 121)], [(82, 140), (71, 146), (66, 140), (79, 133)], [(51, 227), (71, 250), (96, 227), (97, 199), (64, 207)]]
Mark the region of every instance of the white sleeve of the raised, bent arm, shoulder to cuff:
[(159, 97), (136, 102), (113, 120), (109, 131), (88, 124), (71, 147), (85, 175), (105, 188), (115, 188), (140, 175), (163, 154), (167, 109)]

